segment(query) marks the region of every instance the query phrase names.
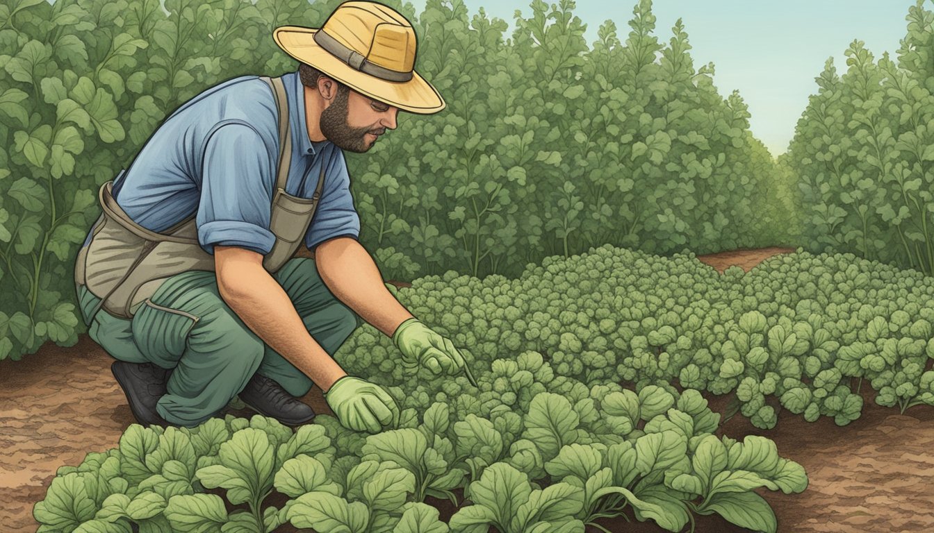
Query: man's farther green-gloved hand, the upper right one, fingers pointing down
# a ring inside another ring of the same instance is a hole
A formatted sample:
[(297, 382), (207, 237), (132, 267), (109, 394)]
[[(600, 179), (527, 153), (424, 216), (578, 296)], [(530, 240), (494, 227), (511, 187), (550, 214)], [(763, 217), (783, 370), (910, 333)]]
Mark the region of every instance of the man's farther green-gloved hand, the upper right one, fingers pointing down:
[(467, 368), (463, 356), (454, 343), (425, 326), (417, 318), (409, 318), (392, 333), (392, 343), (403, 353), (403, 365), (414, 368), (421, 365), (435, 374), (449, 375), (466, 372), (467, 379), (476, 386), (474, 375)]

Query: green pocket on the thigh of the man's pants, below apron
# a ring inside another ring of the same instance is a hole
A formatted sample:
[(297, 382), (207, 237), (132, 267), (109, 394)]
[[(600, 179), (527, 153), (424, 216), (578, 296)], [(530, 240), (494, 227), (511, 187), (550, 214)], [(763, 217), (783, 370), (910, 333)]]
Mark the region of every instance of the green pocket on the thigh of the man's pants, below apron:
[(133, 338), (139, 350), (163, 368), (172, 368), (185, 353), (198, 317), (163, 307), (147, 299), (133, 317)]

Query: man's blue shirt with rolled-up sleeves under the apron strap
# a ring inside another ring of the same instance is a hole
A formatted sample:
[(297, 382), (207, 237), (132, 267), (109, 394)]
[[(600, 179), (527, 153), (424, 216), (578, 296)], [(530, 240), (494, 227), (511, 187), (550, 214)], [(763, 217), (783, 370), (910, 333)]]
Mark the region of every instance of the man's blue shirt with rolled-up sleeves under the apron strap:
[[(292, 142), (286, 192), (311, 198), (325, 168), (324, 189), (304, 244), (314, 248), (337, 236), (359, 238), (360, 217), (344, 153), (329, 141), (311, 142), (298, 72), (282, 80)], [(225, 245), (266, 254), (275, 243), (269, 219), (278, 145), (278, 114), (269, 86), (257, 76), (234, 77), (165, 119), (116, 180), (114, 197), (150, 231), (164, 231), (196, 212), (198, 241), (207, 253)]]

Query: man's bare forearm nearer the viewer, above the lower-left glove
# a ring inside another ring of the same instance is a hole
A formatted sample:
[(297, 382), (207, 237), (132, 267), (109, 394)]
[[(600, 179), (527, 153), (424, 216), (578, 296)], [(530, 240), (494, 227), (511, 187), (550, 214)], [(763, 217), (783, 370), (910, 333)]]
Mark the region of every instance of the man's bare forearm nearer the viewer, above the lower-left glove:
[(249, 260), (248, 256), (242, 259), (225, 261), (218, 274), (224, 302), (265, 344), (322, 390), (330, 389), (347, 372), (305, 330), (289, 296), (262, 268), (262, 262)]

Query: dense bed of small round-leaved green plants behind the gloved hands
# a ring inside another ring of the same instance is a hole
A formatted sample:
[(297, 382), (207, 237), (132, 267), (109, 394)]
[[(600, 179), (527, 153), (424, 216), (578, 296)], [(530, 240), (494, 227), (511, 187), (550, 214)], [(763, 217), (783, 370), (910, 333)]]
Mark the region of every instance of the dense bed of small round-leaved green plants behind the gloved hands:
[[(934, 278), (850, 254), (799, 248), (749, 273), (717, 274), (691, 253), (604, 245), (545, 259), (516, 279), (419, 278), (397, 296), (468, 354), (474, 374), (488, 372), (471, 397), (461, 396), (465, 378), (432, 380), (427, 371), (403, 390), (394, 386), (406, 371), (389, 339), (369, 328), (348, 339), (337, 355), (348, 372), (372, 373), (420, 410), (452, 401), (488, 415), (523, 406), (545, 386), (580, 400), (605, 383), (729, 394), (758, 428), (773, 428), (783, 407), (848, 424), (867, 386), (877, 403), (902, 411), (934, 404)], [(550, 363), (546, 372), (494, 362), (529, 350)]]

